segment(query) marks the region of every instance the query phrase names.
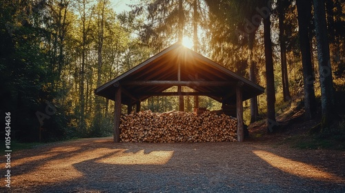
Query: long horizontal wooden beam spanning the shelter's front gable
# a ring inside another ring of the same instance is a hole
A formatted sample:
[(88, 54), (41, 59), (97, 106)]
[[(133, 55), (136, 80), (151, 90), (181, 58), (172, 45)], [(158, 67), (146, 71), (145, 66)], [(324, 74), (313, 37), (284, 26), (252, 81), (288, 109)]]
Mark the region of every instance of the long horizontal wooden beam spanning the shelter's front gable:
[(231, 81), (127, 81), (122, 85), (234, 86)]

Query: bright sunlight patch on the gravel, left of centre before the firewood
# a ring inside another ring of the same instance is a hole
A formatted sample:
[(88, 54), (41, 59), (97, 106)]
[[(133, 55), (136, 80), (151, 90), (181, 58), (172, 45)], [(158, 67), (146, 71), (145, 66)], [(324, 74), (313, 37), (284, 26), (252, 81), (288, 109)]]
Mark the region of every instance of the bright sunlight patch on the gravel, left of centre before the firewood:
[(174, 151), (153, 151), (148, 154), (144, 150), (139, 152), (119, 152), (97, 161), (119, 165), (164, 165), (171, 159)]

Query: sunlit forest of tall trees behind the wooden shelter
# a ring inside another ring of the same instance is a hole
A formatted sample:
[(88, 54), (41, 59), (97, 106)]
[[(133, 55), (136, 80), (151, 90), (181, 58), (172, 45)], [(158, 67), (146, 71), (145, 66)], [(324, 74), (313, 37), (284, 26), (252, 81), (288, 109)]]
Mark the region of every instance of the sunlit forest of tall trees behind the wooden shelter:
[[(266, 88), (244, 102), (247, 124), (266, 119), (274, 132), (279, 113), (302, 105), (306, 120), (327, 129), (344, 112), (344, 1), (141, 0), (123, 12), (117, 6), (0, 1), (0, 111), (11, 114), (12, 139), (111, 135), (115, 104), (95, 96), (95, 88), (179, 39)], [(187, 112), (193, 99), (184, 97)], [(153, 96), (141, 109), (178, 110), (178, 102)], [(221, 108), (206, 96), (199, 106)]]

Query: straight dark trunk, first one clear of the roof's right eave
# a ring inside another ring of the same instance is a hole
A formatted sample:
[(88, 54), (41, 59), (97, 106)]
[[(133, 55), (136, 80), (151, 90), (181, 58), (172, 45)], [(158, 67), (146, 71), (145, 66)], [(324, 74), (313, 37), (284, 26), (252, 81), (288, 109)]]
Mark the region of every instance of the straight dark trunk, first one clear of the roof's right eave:
[(273, 69), (272, 41), (270, 39), (270, 14), (264, 17), (264, 44), (266, 59), (267, 129), (275, 132), (275, 74)]

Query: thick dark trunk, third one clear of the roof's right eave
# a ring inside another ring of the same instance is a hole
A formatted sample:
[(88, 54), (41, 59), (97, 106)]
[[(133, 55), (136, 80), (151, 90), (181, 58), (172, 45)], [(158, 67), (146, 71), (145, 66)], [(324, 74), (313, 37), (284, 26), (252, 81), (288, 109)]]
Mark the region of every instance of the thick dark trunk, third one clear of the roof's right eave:
[(307, 23), (311, 22), (311, 1), (297, 0), (299, 46), (302, 52), (304, 109), (306, 119), (313, 119), (316, 112), (313, 65)]

